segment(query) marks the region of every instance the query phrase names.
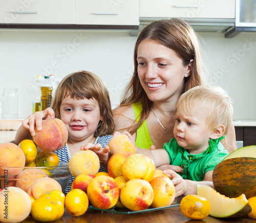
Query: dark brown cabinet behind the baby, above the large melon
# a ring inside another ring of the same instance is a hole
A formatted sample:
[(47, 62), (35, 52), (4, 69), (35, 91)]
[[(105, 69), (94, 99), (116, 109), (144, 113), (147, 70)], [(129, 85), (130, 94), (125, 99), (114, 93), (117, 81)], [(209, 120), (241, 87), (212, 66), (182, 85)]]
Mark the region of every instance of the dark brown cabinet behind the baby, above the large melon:
[(256, 127), (244, 126), (234, 127), (237, 141), (243, 141), (244, 146), (256, 145)]

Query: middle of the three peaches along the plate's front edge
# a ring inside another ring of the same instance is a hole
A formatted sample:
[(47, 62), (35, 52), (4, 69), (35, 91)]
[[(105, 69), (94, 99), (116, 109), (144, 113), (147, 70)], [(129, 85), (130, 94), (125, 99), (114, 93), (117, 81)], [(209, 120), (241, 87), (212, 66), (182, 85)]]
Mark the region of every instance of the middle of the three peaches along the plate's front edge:
[(154, 191), (150, 183), (142, 179), (127, 181), (120, 192), (122, 204), (132, 211), (142, 211), (151, 206)]

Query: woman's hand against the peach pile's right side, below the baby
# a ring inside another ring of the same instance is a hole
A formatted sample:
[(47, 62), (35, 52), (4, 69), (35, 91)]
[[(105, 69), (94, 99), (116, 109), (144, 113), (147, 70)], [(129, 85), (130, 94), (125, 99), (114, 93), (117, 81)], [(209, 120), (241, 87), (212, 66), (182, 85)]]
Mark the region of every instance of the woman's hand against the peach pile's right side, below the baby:
[(187, 182), (180, 175), (178, 175), (175, 171), (170, 169), (164, 170), (164, 173), (170, 178), (170, 180), (172, 180), (175, 186), (175, 197), (178, 197), (186, 193)]

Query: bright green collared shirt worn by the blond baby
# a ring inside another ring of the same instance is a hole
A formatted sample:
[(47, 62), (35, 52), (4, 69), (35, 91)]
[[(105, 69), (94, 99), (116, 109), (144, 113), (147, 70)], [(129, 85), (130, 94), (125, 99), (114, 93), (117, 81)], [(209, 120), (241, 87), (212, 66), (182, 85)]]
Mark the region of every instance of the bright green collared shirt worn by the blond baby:
[(209, 147), (200, 154), (189, 154), (185, 148), (178, 145), (175, 138), (164, 143), (163, 149), (169, 155), (170, 164), (184, 168), (183, 174), (178, 173), (183, 179), (202, 181), (206, 172), (214, 170), (215, 166), (229, 154), (220, 143), (223, 138), (210, 139)]

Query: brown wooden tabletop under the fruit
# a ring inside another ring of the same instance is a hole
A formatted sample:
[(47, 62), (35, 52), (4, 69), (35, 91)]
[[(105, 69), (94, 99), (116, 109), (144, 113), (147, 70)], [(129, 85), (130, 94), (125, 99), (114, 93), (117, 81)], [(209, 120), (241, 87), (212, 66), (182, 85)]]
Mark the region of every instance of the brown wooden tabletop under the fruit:
[[(23, 221), (23, 223), (32, 223), (34, 221), (31, 217)], [(203, 220), (191, 220), (185, 217), (180, 207), (173, 207), (164, 210), (158, 210), (153, 212), (146, 212), (140, 214), (116, 214), (106, 213), (97, 210), (87, 210), (87, 212), (80, 217), (71, 217), (67, 212), (61, 219), (54, 221), (55, 223), (162, 223), (162, 222), (186, 222), (186, 223), (256, 223), (256, 220), (249, 218), (231, 218), (221, 219), (215, 217), (206, 217)]]

